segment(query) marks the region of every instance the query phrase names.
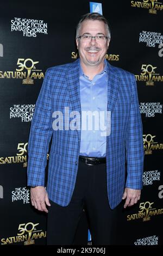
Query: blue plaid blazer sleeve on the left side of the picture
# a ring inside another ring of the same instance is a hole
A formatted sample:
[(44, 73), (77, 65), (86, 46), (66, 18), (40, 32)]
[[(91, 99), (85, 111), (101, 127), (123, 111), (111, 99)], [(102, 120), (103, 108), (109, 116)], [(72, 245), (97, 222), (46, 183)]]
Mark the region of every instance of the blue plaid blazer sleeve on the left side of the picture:
[(52, 137), (51, 76), (48, 69), (36, 101), (28, 142), (27, 185), (45, 186), (45, 168)]

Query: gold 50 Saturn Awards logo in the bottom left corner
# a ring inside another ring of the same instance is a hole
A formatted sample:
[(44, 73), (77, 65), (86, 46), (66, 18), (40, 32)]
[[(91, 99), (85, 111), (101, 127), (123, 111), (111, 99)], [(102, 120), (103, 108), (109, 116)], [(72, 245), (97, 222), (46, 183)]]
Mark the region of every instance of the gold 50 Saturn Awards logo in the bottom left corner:
[(10, 245), (18, 242), (24, 242), (24, 245), (34, 245), (36, 239), (46, 237), (46, 231), (37, 229), (39, 223), (28, 222), (18, 226), (17, 236), (11, 236), (1, 239), (1, 245)]

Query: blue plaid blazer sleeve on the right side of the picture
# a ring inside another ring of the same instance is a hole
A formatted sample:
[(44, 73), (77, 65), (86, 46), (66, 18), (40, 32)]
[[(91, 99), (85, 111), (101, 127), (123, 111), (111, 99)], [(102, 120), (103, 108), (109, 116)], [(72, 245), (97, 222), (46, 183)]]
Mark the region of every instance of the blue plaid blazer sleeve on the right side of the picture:
[(126, 134), (126, 187), (138, 190), (142, 188), (144, 149), (141, 113), (134, 75), (131, 80), (131, 106)]

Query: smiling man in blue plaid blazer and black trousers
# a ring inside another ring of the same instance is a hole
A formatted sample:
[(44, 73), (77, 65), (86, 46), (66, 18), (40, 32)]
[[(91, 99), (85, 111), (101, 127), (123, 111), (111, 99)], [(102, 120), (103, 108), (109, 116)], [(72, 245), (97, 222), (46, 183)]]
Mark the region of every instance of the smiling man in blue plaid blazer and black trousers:
[[(105, 17), (84, 15), (76, 32), (80, 58), (49, 68), (36, 102), (28, 145), (28, 186), (32, 186), (32, 205), (48, 212), (48, 245), (73, 244), (83, 208), (92, 243), (110, 245), (116, 206), (122, 199), (126, 199), (124, 208), (140, 199), (143, 141), (136, 82), (133, 74), (105, 60), (109, 42)], [(92, 119), (96, 129), (82, 129), (86, 112), (99, 113), (98, 117), (105, 113), (102, 120)], [(106, 124), (105, 135), (97, 123)]]

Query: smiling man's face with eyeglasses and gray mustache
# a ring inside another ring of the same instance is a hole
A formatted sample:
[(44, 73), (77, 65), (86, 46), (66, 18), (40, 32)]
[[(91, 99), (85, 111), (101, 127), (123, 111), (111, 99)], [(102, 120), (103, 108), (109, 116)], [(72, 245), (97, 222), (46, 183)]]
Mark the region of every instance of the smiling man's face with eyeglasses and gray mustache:
[[(79, 29), (79, 35), (105, 35), (106, 28), (103, 21), (92, 21), (86, 20), (82, 22), (82, 26)], [(86, 66), (98, 66), (104, 62), (105, 54), (109, 46), (108, 39), (104, 41), (97, 41), (92, 38), (90, 41), (83, 41), (82, 39), (77, 39), (77, 48), (79, 51), (80, 60)]]

